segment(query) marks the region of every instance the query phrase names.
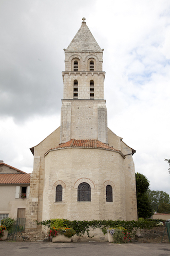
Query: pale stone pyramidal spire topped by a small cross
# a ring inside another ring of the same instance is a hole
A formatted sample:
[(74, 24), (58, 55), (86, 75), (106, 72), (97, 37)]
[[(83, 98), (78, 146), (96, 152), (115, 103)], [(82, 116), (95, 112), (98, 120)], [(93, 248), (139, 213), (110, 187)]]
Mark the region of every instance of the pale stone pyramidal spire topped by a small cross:
[(68, 52), (102, 52), (100, 46), (96, 42), (90, 29), (86, 25), (85, 18), (82, 19), (82, 25), (78, 33), (74, 36), (70, 45), (67, 47)]

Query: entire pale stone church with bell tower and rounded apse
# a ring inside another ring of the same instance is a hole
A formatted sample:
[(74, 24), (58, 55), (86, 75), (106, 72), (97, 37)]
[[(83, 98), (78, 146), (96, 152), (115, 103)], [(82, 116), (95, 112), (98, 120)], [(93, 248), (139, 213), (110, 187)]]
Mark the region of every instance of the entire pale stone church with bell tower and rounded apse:
[(85, 19), (65, 52), (61, 126), (34, 156), (26, 228), (33, 220), (137, 220), (133, 154), (107, 127), (103, 49)]

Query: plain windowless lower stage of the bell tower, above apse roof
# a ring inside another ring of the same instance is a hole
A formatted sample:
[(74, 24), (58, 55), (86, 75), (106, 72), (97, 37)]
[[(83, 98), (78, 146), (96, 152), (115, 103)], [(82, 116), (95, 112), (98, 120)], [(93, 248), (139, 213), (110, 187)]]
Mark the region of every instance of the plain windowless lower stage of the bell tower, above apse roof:
[(98, 139), (107, 143), (105, 100), (63, 100), (61, 143), (70, 139)]

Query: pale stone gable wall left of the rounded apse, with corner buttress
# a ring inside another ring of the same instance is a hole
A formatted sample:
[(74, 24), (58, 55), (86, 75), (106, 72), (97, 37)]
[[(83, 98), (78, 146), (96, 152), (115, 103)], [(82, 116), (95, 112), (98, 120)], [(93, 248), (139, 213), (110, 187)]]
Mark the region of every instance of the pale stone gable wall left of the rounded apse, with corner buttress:
[(60, 127), (50, 134), (39, 145), (34, 147), (34, 164), (31, 173), (30, 195), (27, 199), (25, 209), (25, 228), (36, 229), (37, 226), (33, 220), (42, 220), (43, 214), (43, 190), (45, 175), (45, 158), (44, 154), (52, 147), (57, 147), (60, 142)]

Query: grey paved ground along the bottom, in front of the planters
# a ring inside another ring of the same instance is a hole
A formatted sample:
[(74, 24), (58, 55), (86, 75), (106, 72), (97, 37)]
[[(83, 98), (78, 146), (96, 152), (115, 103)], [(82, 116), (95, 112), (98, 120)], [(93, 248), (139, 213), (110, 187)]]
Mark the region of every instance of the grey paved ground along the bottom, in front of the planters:
[(4, 256), (170, 256), (170, 243), (52, 243), (0, 241)]

